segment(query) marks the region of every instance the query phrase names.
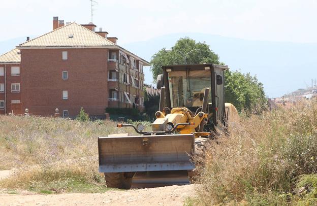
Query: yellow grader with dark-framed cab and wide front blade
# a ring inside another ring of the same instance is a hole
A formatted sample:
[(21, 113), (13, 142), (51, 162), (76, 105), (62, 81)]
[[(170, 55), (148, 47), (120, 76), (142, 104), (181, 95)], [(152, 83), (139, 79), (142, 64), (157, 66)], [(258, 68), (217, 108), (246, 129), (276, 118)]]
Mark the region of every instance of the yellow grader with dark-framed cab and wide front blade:
[(184, 185), (194, 178), (192, 157), (201, 153), (214, 131), (226, 130), (237, 111), (225, 104), (224, 71), (228, 66), (190, 64), (163, 66), (157, 77), (160, 106), (151, 131), (138, 124), (138, 136), (98, 138), (99, 171), (108, 187), (129, 189)]

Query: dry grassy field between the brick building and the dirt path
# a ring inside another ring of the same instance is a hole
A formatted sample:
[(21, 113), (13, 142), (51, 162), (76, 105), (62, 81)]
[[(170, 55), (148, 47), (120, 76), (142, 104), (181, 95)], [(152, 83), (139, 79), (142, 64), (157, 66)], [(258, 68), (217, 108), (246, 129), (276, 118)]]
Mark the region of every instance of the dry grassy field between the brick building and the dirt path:
[(42, 193), (105, 191), (98, 136), (134, 134), (112, 121), (0, 116), (0, 169), (17, 168), (3, 188)]

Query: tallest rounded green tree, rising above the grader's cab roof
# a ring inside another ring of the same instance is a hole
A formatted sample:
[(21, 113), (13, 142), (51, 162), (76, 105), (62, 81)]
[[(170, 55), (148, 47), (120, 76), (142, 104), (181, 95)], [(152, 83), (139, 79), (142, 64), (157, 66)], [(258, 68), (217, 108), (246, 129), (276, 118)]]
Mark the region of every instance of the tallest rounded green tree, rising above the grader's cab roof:
[(150, 64), (154, 81), (156, 80), (157, 75), (163, 73), (161, 68), (162, 65), (184, 64), (185, 56), (187, 64), (219, 64), (218, 55), (210, 50), (209, 45), (201, 42), (197, 43), (195, 40), (189, 39), (188, 37), (181, 38), (171, 50), (163, 48), (152, 56)]

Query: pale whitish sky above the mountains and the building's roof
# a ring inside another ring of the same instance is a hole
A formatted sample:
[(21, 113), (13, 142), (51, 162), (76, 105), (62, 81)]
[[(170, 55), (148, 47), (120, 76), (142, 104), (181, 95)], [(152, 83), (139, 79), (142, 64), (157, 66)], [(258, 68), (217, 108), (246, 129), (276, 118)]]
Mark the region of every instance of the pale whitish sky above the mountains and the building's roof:
[[(202, 32), (247, 40), (317, 42), (317, 0), (105, 1), (97, 0), (93, 23), (118, 44), (167, 33)], [(0, 0), (0, 41), (41, 35), (53, 16), (90, 22), (89, 0)]]

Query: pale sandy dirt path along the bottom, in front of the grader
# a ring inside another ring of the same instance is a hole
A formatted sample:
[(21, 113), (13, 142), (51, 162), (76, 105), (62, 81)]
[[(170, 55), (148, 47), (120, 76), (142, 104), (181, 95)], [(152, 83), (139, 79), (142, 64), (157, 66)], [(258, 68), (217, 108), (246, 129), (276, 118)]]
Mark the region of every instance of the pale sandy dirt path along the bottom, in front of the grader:
[(183, 205), (194, 196), (194, 185), (169, 186), (105, 193), (43, 195), (26, 191), (0, 191), (0, 205)]

